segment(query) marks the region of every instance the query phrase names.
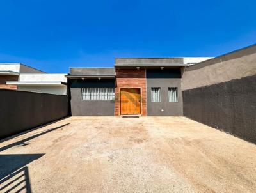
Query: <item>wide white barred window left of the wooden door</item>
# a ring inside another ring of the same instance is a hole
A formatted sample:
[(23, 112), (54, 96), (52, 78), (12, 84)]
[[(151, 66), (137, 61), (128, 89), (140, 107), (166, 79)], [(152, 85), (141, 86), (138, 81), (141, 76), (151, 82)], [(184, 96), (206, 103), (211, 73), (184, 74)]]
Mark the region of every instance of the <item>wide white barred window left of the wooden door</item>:
[(82, 88), (82, 100), (113, 100), (115, 88)]

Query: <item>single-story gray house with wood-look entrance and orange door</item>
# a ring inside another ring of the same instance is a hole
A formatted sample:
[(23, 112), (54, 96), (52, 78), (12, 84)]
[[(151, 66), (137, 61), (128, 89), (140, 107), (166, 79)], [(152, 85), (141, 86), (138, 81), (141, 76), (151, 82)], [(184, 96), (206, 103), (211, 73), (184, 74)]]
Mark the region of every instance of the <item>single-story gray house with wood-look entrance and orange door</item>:
[(72, 116), (182, 116), (184, 67), (210, 58), (115, 58), (114, 68), (70, 68)]

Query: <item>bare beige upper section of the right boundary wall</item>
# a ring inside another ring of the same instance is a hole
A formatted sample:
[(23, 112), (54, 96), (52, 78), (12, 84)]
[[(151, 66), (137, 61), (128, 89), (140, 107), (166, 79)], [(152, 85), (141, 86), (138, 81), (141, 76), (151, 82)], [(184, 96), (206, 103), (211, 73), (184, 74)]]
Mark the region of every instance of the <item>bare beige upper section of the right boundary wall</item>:
[(209, 86), (256, 74), (256, 45), (186, 68), (183, 89)]

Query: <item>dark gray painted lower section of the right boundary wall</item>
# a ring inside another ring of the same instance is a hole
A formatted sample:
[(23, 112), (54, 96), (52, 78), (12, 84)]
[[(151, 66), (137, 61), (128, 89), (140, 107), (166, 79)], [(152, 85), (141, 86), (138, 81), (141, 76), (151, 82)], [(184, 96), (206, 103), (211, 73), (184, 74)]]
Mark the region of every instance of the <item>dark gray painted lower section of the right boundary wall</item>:
[(256, 76), (183, 92), (184, 116), (256, 143)]

